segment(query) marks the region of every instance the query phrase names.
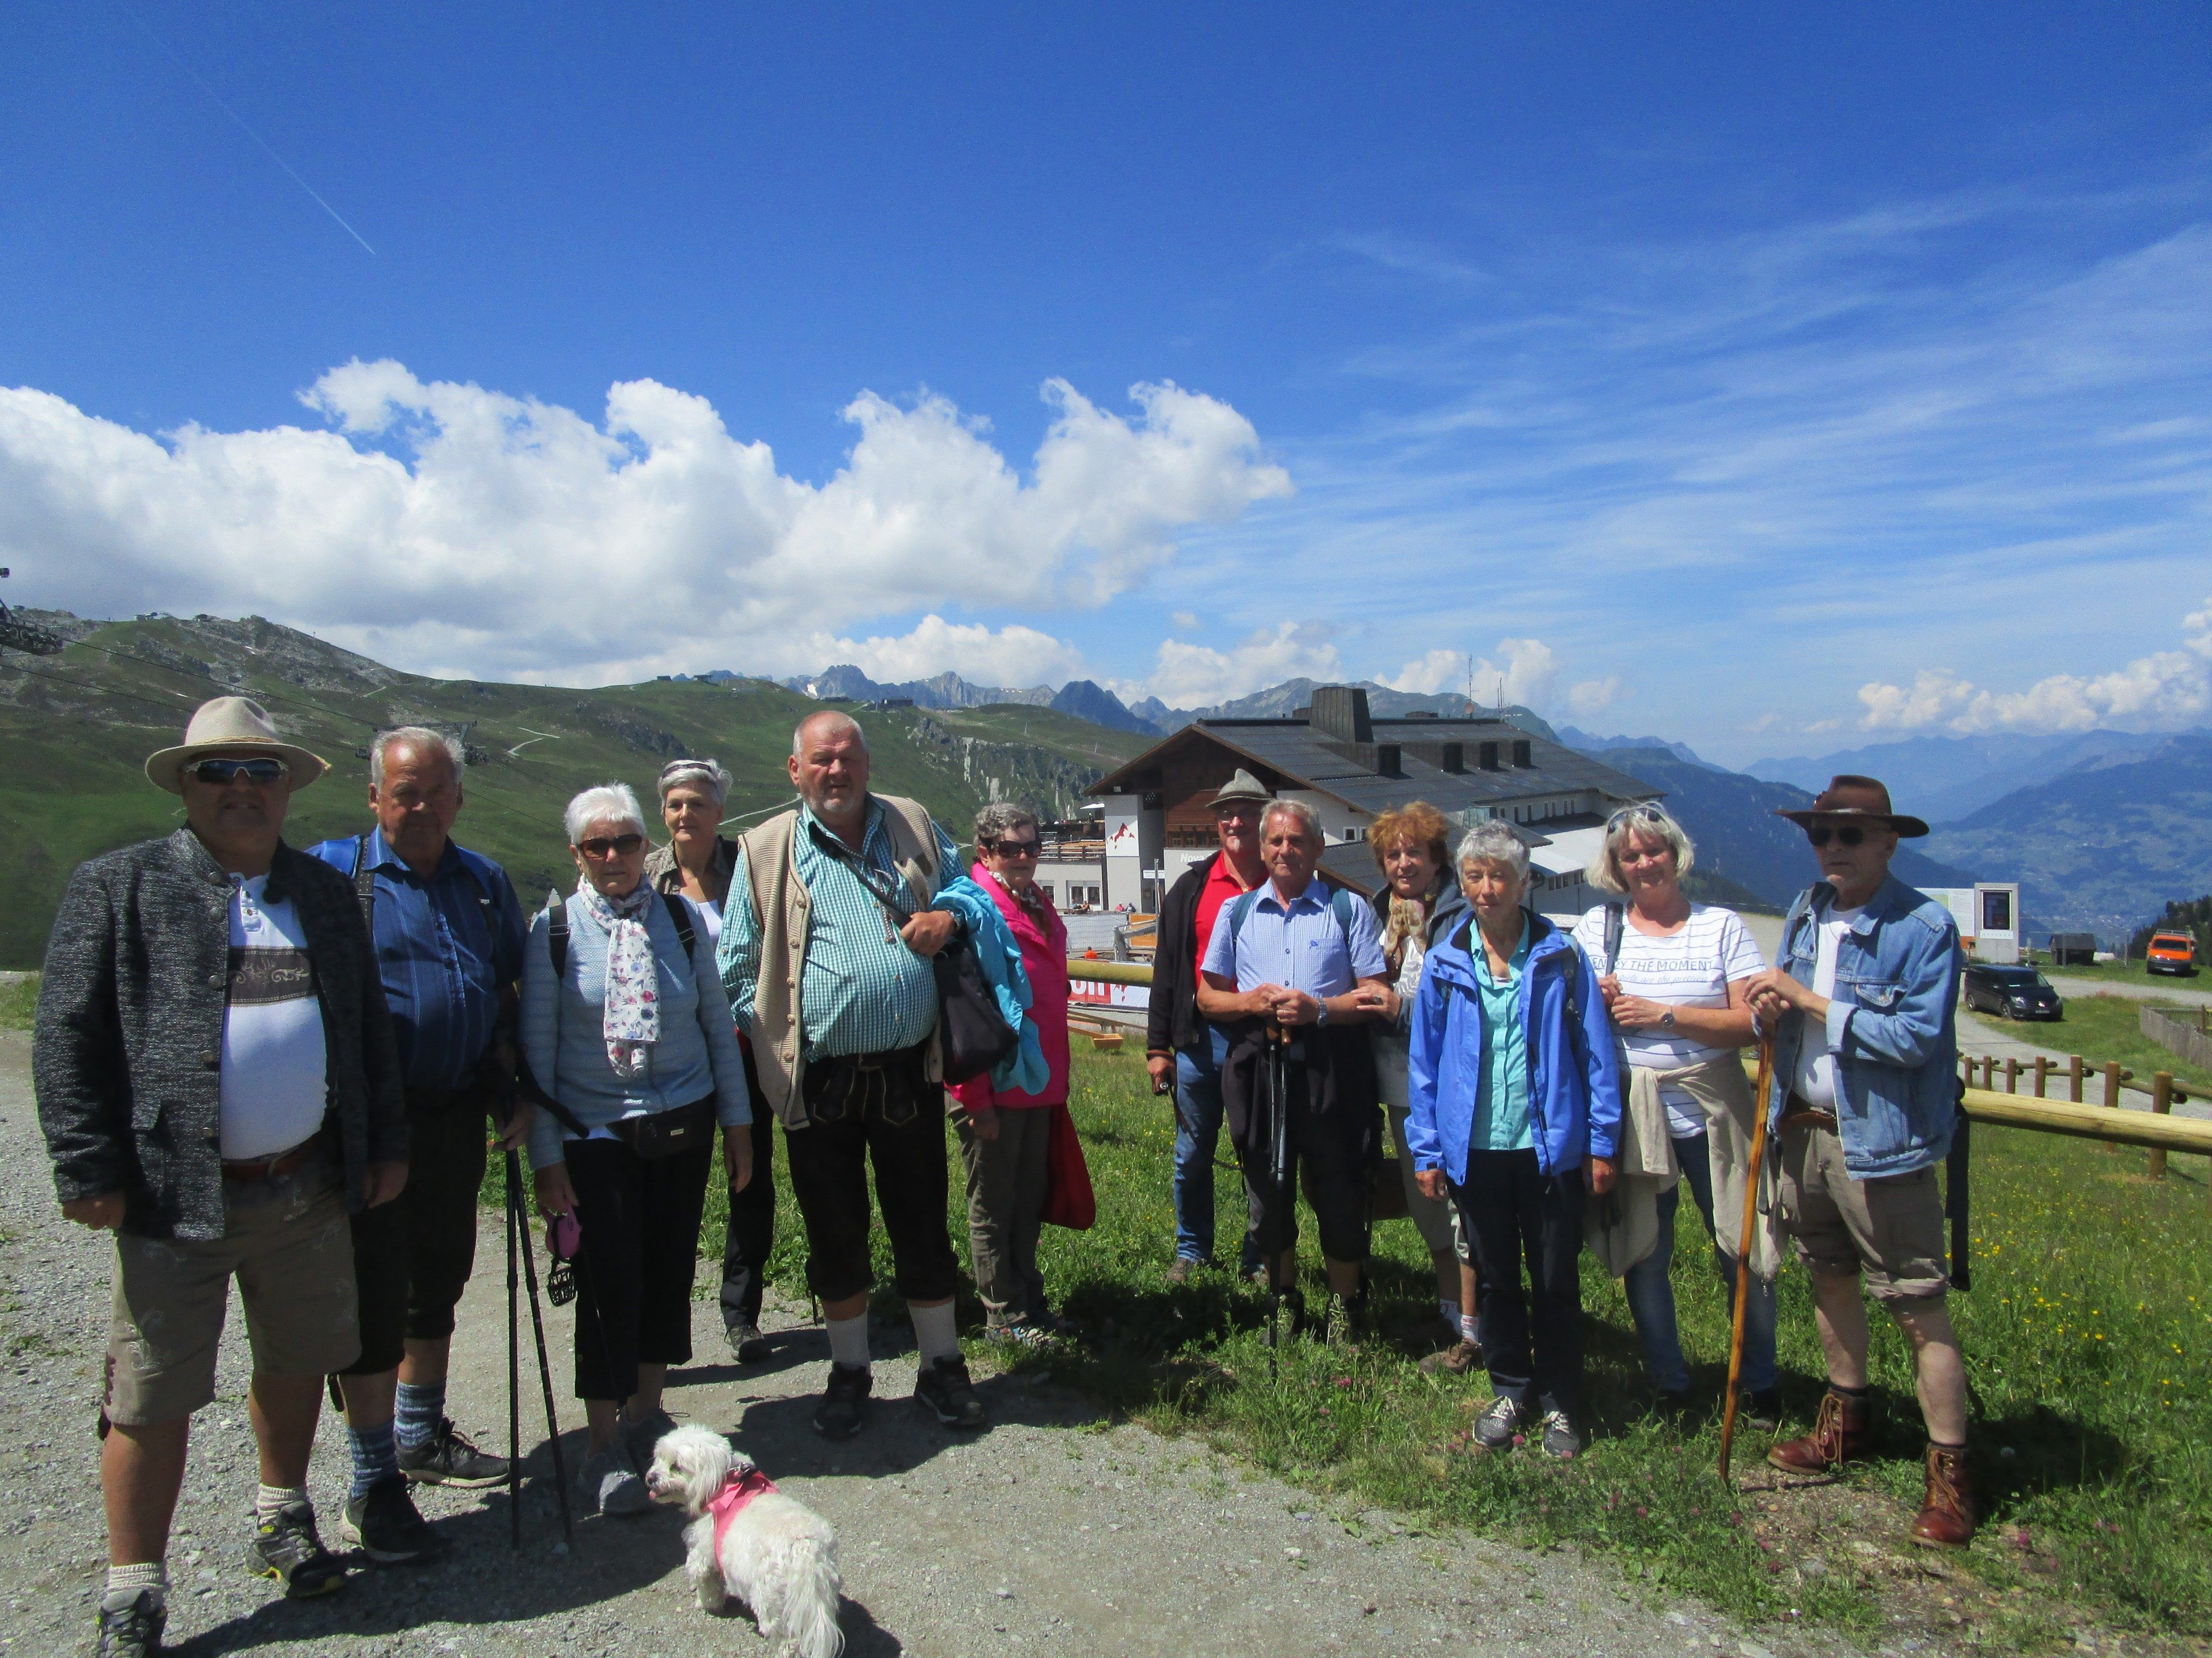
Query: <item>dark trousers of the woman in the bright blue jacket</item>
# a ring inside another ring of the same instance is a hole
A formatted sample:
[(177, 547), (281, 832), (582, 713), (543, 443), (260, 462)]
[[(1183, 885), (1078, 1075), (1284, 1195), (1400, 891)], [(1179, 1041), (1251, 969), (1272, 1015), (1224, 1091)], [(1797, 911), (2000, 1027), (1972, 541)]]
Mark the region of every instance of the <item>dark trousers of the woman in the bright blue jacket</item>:
[[(1478, 1335), (1491, 1391), (1528, 1408), (1582, 1404), (1582, 1169), (1546, 1176), (1535, 1152), (1469, 1152), (1451, 1187), (1482, 1273)], [(1528, 1267), (1522, 1287), (1522, 1262)]]

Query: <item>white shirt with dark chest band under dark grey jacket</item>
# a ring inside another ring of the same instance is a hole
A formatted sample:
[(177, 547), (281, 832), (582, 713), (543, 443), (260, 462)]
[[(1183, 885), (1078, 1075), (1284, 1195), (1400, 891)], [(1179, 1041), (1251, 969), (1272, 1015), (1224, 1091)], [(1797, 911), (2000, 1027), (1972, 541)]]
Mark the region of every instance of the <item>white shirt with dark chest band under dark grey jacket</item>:
[(307, 935), (268, 875), (230, 878), (230, 988), (223, 997), (223, 1156), (288, 1152), (323, 1127), (323, 1004)]

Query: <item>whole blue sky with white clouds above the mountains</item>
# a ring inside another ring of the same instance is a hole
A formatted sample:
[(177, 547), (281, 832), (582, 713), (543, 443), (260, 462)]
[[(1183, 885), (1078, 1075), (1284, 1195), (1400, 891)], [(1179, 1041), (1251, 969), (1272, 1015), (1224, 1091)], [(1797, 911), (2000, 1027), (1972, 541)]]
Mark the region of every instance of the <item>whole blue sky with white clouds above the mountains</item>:
[(1188, 13), (9, 9), (11, 597), (557, 681), (1478, 659), (1732, 760), (2203, 721), (2201, 7)]

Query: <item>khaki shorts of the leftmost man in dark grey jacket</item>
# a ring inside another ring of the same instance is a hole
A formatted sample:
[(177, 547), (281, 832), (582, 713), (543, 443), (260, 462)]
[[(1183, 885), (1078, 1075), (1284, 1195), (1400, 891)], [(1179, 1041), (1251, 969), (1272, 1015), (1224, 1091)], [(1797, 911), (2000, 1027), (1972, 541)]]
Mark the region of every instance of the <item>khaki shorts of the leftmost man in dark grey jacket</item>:
[(274, 1180), (226, 1178), (221, 1238), (115, 1240), (108, 1421), (179, 1421), (215, 1397), (230, 1280), (259, 1375), (330, 1375), (361, 1353), (354, 1238), (323, 1158)]

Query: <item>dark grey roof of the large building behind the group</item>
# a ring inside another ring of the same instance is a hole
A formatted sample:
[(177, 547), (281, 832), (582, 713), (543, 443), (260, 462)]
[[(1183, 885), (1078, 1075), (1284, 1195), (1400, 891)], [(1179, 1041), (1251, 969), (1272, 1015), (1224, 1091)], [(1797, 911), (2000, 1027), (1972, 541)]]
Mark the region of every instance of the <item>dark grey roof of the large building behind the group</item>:
[[(1548, 743), (1542, 736), (1531, 736), (1504, 721), (1407, 718), (1374, 721), (1374, 743), (1345, 743), (1296, 718), (1194, 721), (1166, 738), (1166, 743), (1157, 743), (1117, 767), (1093, 794), (1115, 794), (1115, 785), (1126, 774), (1141, 769), (1152, 754), (1188, 732), (1203, 732), (1217, 743), (1367, 814), (1387, 811), (1407, 800), (1427, 800), (1440, 811), (1504, 807), (1568, 789), (1597, 789), (1613, 800), (1657, 800), (1666, 794), (1666, 789), (1655, 789), (1626, 772), (1615, 772), (1588, 754), (1579, 754), (1562, 743)], [(1498, 743), (1500, 754), (1511, 756), (1511, 745), (1517, 741), (1528, 743), (1528, 767), (1478, 769), (1475, 760), (1482, 743)], [(1442, 743), (1460, 743), (1464, 747), (1464, 772), (1444, 772), (1440, 756), (1418, 752), (1436, 749)], [(1398, 745), (1400, 776), (1380, 776), (1376, 772), (1378, 745)]]

